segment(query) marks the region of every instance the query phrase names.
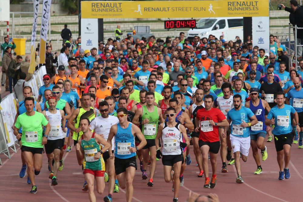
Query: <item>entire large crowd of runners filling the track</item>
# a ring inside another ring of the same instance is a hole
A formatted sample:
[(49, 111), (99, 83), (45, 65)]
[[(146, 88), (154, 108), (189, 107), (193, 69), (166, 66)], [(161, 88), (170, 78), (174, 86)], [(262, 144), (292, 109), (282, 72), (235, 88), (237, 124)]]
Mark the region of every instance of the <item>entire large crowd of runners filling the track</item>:
[(277, 179), (289, 179), (291, 145), (303, 148), (303, 60), (298, 71), (289, 67), (281, 60), (285, 47), (269, 37), (270, 53), (251, 40), (188, 39), (183, 32), (165, 41), (109, 38), (91, 50), (77, 46), (80, 38), (74, 49), (63, 46), (68, 64), (47, 69), (37, 101), (25, 87), (25, 99), (17, 103), (19, 176), (27, 170), (30, 193), (36, 194), (45, 151), (51, 185), (60, 184), (63, 154), (76, 152), (90, 201), (96, 201), (94, 185), (103, 194), (107, 182), (104, 201), (115, 201), (122, 188), (129, 202), (137, 167), (148, 187), (157, 186), (153, 177), (161, 159), (176, 202), (192, 162), (190, 149), (203, 187), (215, 188), (219, 152), (221, 172), (235, 164), (235, 182), (243, 183), (240, 158), (246, 162), (251, 147), (254, 174), (261, 174), (268, 158), (264, 141), (274, 141)]

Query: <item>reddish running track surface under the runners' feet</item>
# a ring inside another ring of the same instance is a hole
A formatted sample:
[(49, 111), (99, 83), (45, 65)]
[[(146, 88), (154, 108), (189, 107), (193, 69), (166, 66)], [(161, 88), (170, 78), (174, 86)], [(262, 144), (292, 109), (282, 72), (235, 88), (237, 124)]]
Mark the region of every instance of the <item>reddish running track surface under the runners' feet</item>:
[[(218, 194), (220, 201), (301, 201), (302, 200), (302, 183), (303, 174), (303, 149), (298, 149), (298, 145), (291, 148), (291, 163), (289, 171), (291, 178), (288, 180), (278, 180), (278, 163), (276, 161), (275, 145), (273, 142), (266, 142), (268, 159), (261, 162), (263, 173), (254, 175), (253, 172), (257, 166), (252, 157), (250, 150), (248, 161), (241, 161), (242, 177), (244, 184), (237, 184), (235, 167), (228, 166), (228, 173), (221, 173), (221, 158), (218, 156), (217, 185), (214, 189), (204, 189), (205, 178), (198, 178), (198, 167), (195, 167), (195, 156), (191, 146), (191, 165), (186, 167), (184, 173), (184, 186), (180, 188), (179, 201), (186, 201), (189, 190), (199, 194), (215, 193)], [(10, 160), (2, 158), (3, 165), (0, 166), (0, 201), (88, 201), (88, 193), (81, 190), (84, 175), (81, 167), (76, 160), (75, 148), (72, 152), (64, 154), (64, 169), (58, 173), (58, 185), (50, 186), (48, 179), (47, 157), (44, 155), (43, 167), (41, 173), (35, 176), (38, 192), (29, 194), (31, 185), (26, 184), (25, 178), (19, 178), (21, 168), (20, 149), (13, 154)], [(260, 154), (261, 158), (261, 154)], [(211, 166), (209, 162), (211, 172)], [(149, 172), (149, 168), (148, 168)], [(134, 185), (134, 194), (132, 201), (172, 201), (173, 193), (171, 192), (172, 183), (165, 183), (163, 175), (163, 166), (160, 161), (157, 162), (156, 174), (154, 177), (154, 187), (148, 187), (148, 180), (142, 180), (140, 169), (136, 171)], [(149, 176), (149, 173), (148, 173)], [(211, 176), (211, 173), (210, 173)], [(102, 195), (95, 191), (97, 201), (103, 201), (107, 194), (107, 183)], [(114, 202), (124, 202), (125, 193), (120, 188), (120, 193), (113, 194)]]

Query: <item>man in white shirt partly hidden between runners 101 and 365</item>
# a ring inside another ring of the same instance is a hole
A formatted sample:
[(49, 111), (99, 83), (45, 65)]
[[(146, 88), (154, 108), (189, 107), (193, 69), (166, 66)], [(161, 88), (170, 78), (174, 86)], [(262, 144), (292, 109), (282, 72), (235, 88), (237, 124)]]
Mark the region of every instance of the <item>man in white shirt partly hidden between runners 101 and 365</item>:
[[(231, 95), (232, 93), (232, 88), (230, 83), (224, 83), (221, 86), (223, 96), (218, 97), (217, 99), (214, 100), (214, 107), (217, 107), (218, 109), (221, 110), (221, 112), (225, 115), (227, 118), (227, 112), (234, 108), (234, 104), (232, 101), (233, 96)], [(223, 137), (222, 134), (223, 132), (226, 132), (226, 137)], [(230, 127), (221, 127), (219, 126), (219, 137), (220, 137), (220, 143), (221, 143), (221, 148), (220, 148), (220, 156), (222, 160), (222, 173), (227, 173), (227, 166), (226, 166), (226, 160), (230, 161), (228, 164), (233, 165), (235, 162), (235, 159), (232, 158), (231, 154), (231, 143), (230, 143)], [(227, 147), (227, 152), (226, 152), (226, 146)], [(227, 155), (226, 155), (227, 153)]]

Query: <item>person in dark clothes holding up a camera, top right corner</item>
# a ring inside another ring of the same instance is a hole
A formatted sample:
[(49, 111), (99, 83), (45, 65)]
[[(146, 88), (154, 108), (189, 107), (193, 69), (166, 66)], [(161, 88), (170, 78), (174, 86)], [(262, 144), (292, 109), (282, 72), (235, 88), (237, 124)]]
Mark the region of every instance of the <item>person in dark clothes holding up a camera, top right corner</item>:
[[(303, 28), (303, 8), (298, 5), (296, 0), (290, 0), (290, 8), (280, 4), (278, 5), (278, 9), (280, 6), (284, 8), (285, 11), (290, 12), (289, 22), (292, 25), (297, 25), (297, 27)], [(303, 29), (297, 30), (297, 44), (303, 45)], [(297, 58), (298, 60), (302, 58), (302, 46), (297, 47)]]

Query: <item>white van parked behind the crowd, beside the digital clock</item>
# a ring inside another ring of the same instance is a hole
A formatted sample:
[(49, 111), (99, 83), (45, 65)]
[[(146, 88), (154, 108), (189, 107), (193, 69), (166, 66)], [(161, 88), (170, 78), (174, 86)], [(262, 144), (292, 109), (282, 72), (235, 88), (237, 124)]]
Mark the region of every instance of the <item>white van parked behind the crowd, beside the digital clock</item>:
[(243, 40), (243, 18), (202, 18), (196, 23), (195, 29), (188, 30), (187, 38), (192, 39), (194, 36), (208, 38), (210, 34), (218, 39), (224, 35), (225, 41), (235, 41), (236, 36)]

